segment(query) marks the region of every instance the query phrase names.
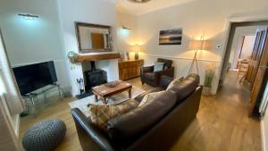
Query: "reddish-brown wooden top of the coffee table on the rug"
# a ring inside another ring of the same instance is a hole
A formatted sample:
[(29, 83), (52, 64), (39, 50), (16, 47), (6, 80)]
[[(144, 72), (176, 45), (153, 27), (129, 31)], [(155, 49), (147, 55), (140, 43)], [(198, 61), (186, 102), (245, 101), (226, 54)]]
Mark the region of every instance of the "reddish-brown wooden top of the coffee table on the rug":
[(112, 96), (114, 94), (120, 93), (122, 91), (128, 90), (132, 88), (132, 85), (128, 82), (117, 80), (118, 85), (111, 88), (107, 87), (106, 83), (100, 86), (96, 86), (93, 89), (93, 92), (96, 93), (99, 96)]

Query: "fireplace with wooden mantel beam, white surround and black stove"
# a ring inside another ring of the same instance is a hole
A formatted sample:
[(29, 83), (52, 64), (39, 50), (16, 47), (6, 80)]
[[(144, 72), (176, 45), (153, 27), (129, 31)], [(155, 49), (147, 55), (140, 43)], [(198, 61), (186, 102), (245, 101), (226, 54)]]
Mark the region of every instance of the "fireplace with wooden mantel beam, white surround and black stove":
[(75, 62), (80, 67), (71, 70), (71, 74), (78, 78), (72, 79), (75, 82), (71, 83), (72, 95), (79, 99), (91, 96), (92, 87), (106, 83), (106, 81), (118, 80), (118, 58), (120, 58), (118, 53), (77, 56)]

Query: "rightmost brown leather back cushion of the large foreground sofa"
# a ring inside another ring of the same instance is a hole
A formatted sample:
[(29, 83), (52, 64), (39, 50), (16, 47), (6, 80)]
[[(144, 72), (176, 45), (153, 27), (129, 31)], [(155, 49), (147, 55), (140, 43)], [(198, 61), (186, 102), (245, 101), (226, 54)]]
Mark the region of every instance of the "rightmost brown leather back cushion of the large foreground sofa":
[(197, 74), (190, 74), (180, 83), (175, 84), (168, 91), (174, 91), (177, 95), (178, 103), (182, 102), (187, 96), (192, 94), (199, 85), (199, 76)]

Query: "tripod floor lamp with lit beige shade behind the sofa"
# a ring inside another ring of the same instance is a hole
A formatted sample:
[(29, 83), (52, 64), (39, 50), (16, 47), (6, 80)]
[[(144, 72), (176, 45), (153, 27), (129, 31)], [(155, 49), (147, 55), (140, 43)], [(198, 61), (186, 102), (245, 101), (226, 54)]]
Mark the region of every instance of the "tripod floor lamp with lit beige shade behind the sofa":
[(203, 46), (204, 46), (204, 38), (201, 36), (200, 40), (193, 40), (190, 42), (190, 50), (195, 50), (195, 56), (192, 60), (192, 63), (191, 63), (191, 66), (188, 70), (188, 74), (190, 74), (194, 67), (196, 66), (197, 67), (197, 74), (199, 74), (199, 71), (198, 71), (198, 63), (197, 63), (197, 53), (198, 53), (198, 50), (202, 50), (203, 49)]

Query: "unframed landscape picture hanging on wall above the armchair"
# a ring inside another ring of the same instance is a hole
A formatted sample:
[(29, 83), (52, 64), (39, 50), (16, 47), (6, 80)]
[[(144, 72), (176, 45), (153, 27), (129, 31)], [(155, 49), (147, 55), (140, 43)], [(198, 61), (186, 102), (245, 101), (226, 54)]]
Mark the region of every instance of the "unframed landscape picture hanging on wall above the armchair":
[(182, 29), (161, 30), (159, 45), (181, 45)]

